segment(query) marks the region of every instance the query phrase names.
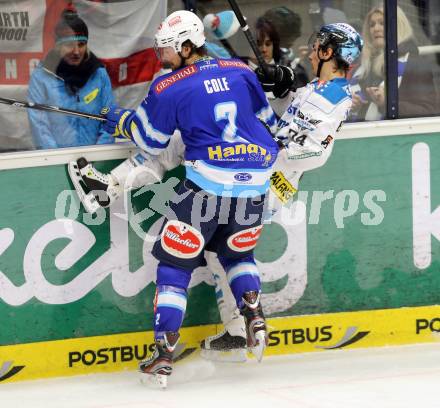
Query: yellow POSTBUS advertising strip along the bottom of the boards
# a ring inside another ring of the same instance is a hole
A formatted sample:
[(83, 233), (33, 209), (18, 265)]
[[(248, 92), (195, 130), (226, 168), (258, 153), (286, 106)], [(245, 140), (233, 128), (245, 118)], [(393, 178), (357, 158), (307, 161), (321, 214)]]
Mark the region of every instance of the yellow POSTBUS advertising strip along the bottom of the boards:
[[(281, 317), (269, 319), (268, 327), (267, 356), (432, 343), (440, 341), (440, 306)], [(179, 361), (199, 353), (200, 340), (219, 330), (216, 325), (182, 329), (176, 369)], [(3, 346), (0, 381), (135, 370), (152, 343), (152, 332), (139, 332)], [(240, 363), (225, 364), (233, 369)]]

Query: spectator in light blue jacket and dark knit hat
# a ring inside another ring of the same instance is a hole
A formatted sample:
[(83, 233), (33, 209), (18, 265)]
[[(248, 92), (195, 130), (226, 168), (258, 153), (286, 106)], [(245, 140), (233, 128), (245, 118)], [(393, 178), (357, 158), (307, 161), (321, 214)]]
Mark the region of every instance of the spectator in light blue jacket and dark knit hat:
[[(55, 37), (55, 47), (31, 75), (29, 101), (92, 114), (112, 105), (110, 78), (88, 49), (88, 28), (76, 12), (63, 12)], [(28, 115), (38, 149), (114, 142), (99, 121), (32, 109)]]

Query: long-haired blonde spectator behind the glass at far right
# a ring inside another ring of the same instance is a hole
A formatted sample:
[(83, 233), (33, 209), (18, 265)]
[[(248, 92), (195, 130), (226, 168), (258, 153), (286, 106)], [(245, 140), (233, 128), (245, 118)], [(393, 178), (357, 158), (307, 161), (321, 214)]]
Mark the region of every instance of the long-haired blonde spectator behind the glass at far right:
[[(434, 87), (434, 66), (419, 55), (408, 18), (397, 7), (399, 117), (429, 116), (438, 113)], [(385, 118), (385, 31), (382, 7), (366, 16), (361, 65), (353, 74), (351, 120)]]

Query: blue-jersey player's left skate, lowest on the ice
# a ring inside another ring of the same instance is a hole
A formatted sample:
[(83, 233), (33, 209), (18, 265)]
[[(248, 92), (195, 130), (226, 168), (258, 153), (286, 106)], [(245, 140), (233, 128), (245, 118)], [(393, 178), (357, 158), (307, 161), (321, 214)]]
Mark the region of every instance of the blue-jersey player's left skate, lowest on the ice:
[(173, 352), (179, 333), (167, 332), (163, 339), (156, 340), (153, 354), (139, 363), (141, 381), (155, 388), (166, 388), (168, 377), (173, 372)]

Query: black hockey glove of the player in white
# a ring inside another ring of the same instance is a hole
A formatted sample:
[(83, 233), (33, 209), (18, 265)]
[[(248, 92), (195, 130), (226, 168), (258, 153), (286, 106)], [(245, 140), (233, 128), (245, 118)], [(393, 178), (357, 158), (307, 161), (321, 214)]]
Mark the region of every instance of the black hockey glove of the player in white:
[(265, 92), (272, 92), (275, 98), (284, 98), (290, 90), (294, 90), (295, 74), (285, 65), (266, 65), (265, 70), (255, 70), (258, 80)]

